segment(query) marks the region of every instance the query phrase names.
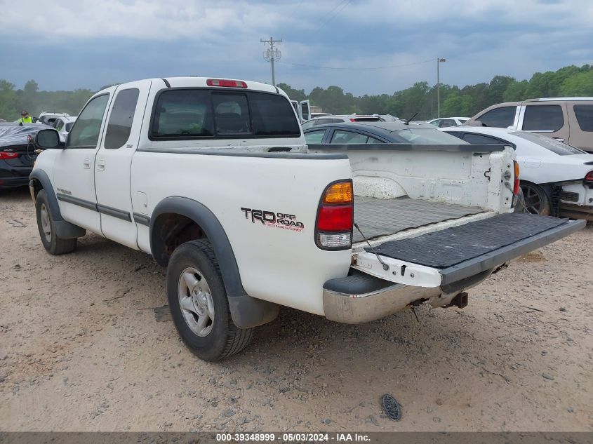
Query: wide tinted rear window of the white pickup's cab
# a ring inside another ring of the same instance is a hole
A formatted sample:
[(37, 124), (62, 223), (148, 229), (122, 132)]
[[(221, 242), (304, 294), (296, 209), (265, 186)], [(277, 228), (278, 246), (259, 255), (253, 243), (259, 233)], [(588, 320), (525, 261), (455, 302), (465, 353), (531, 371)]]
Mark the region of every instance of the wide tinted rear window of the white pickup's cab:
[(156, 102), (151, 138), (299, 137), (286, 97), (246, 91), (171, 89)]

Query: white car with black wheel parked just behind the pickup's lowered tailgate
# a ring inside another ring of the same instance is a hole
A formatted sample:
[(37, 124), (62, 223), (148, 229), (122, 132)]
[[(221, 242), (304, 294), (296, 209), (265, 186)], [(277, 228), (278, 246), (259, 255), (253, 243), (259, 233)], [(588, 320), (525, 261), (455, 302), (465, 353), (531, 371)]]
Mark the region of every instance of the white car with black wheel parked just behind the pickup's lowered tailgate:
[(506, 128), (444, 128), (465, 142), (502, 143), (517, 152), (521, 189), (530, 213), (593, 221), (593, 154), (544, 135)]

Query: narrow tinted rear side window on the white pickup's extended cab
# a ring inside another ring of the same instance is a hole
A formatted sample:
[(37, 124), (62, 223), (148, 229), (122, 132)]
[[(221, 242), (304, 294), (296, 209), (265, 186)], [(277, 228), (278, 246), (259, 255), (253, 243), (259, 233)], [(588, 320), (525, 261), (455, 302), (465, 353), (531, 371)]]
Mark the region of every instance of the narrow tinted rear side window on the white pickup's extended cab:
[(128, 142), (139, 94), (138, 88), (124, 89), (117, 93), (107, 124), (106, 149), (118, 149)]

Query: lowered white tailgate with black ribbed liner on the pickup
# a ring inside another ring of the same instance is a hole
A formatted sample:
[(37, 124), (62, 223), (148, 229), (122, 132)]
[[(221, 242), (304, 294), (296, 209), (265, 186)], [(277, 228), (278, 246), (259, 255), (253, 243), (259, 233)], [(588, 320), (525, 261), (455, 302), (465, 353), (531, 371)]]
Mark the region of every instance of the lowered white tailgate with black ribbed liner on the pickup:
[(365, 248), (352, 267), (386, 281), (446, 286), (557, 241), (585, 224), (585, 220), (507, 213)]

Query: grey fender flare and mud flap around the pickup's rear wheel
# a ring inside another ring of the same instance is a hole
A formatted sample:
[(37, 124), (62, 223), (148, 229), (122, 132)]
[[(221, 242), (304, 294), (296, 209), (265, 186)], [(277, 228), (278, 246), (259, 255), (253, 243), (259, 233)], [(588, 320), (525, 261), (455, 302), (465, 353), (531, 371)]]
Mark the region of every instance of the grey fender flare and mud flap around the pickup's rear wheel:
[(188, 217), (201, 227), (210, 241), (222, 274), (222, 282), (227, 290), (229, 309), (234, 324), (239, 328), (252, 328), (273, 321), (279, 313), (278, 304), (268, 302), (247, 294), (241, 283), (239, 267), (236, 264), (231, 243), (218, 218), (203, 203), (182, 196), (166, 197), (160, 201), (150, 217), (150, 249), (158, 264), (166, 266), (168, 257), (159, 255), (154, 224), (160, 215), (173, 213)]

